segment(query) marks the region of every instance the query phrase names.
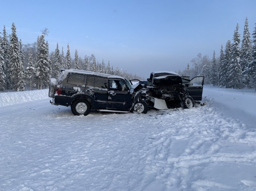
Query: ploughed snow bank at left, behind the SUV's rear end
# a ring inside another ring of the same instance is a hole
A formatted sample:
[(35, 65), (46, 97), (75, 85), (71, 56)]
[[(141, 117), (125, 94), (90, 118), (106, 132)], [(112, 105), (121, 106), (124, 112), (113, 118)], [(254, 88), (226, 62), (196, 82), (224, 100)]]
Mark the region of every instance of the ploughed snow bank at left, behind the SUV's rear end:
[(27, 101), (35, 101), (37, 99), (49, 98), (48, 92), (49, 92), (49, 89), (32, 90), (32, 91), (24, 91), (24, 92), (1, 92), (0, 106), (6, 106), (6, 105), (23, 103)]

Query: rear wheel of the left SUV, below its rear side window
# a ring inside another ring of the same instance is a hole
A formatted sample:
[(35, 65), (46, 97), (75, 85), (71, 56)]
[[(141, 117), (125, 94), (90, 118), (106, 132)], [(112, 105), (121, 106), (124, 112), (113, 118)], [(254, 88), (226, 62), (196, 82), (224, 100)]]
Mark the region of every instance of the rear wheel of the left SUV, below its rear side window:
[(86, 99), (76, 99), (71, 105), (74, 115), (88, 115), (91, 111), (91, 104)]

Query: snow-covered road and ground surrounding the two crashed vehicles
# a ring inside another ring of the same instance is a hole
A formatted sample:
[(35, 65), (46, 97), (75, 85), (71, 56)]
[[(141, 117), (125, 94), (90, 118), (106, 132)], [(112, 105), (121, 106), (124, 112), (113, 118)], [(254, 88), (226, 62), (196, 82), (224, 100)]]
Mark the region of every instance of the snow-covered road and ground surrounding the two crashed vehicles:
[(207, 105), (74, 116), (48, 90), (0, 93), (0, 190), (256, 190), (256, 92)]

